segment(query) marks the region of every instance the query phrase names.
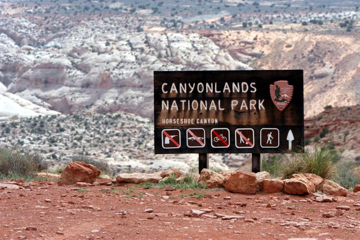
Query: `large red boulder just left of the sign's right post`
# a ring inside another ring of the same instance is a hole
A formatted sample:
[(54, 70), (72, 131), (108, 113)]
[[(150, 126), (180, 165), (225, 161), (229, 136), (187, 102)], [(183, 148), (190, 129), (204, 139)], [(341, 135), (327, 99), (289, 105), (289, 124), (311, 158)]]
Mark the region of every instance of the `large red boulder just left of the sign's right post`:
[(236, 171), (227, 179), (225, 189), (230, 192), (255, 194), (256, 175), (253, 172)]

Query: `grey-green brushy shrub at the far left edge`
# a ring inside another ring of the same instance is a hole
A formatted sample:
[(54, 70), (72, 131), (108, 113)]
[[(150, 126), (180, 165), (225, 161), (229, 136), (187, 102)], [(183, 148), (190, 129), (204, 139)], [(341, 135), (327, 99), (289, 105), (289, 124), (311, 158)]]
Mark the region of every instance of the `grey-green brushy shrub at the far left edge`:
[(9, 178), (31, 178), (48, 167), (43, 156), (0, 149), (0, 174)]

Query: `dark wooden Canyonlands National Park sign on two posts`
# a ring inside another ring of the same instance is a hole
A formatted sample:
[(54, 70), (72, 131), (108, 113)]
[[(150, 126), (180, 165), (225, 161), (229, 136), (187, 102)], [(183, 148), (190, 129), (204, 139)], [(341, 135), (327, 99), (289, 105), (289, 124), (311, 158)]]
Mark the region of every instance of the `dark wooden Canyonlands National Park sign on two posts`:
[(301, 151), (304, 139), (302, 70), (155, 71), (155, 154)]

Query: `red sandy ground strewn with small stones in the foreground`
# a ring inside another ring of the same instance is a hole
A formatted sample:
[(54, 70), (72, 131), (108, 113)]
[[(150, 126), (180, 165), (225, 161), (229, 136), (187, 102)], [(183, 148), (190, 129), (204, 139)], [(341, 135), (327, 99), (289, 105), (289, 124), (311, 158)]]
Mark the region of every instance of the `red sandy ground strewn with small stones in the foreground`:
[[(47, 181), (25, 187), (0, 187), (1, 239), (359, 239), (360, 233), (356, 193), (315, 202), (312, 195), (165, 191), (131, 184), (83, 188), (88, 192)], [(177, 204), (182, 199), (184, 204)], [(322, 217), (339, 205), (350, 209)], [(148, 208), (152, 212), (144, 212)], [(191, 209), (211, 212), (185, 216)], [(210, 218), (217, 213), (244, 219)]]

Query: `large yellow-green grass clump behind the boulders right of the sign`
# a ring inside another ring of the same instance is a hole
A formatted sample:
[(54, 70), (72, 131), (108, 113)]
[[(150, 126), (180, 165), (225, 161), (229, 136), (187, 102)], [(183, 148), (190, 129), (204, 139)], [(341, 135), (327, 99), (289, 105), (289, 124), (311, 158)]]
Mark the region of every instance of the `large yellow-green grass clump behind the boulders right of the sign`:
[(313, 173), (324, 179), (336, 176), (335, 163), (340, 159), (340, 154), (327, 146), (315, 146), (306, 149), (304, 153), (286, 156), (281, 164), (282, 175), (289, 178), (294, 173)]

